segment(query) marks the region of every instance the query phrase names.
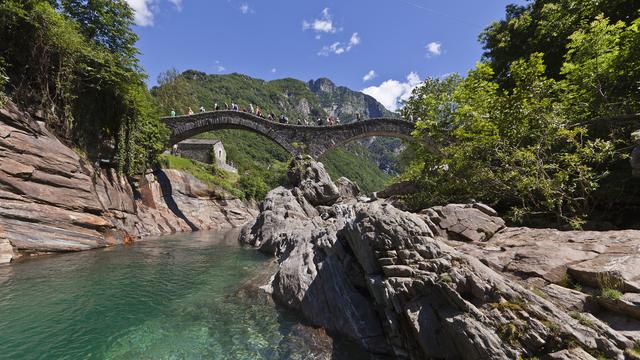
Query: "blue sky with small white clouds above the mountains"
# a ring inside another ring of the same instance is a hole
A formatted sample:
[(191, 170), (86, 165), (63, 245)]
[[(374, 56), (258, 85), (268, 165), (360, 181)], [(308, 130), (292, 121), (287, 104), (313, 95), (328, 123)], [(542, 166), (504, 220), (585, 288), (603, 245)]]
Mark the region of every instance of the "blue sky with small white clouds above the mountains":
[(127, 0), (154, 85), (175, 67), (327, 77), (390, 109), (428, 76), (466, 73), (482, 29), (524, 0)]

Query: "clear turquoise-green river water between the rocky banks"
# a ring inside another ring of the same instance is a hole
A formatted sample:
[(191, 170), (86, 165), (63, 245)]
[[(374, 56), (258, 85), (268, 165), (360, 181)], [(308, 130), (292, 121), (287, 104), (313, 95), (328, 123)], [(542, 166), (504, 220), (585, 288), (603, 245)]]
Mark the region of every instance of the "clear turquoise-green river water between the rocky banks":
[(270, 261), (197, 232), (2, 266), (0, 358), (363, 358), (240, 291)]

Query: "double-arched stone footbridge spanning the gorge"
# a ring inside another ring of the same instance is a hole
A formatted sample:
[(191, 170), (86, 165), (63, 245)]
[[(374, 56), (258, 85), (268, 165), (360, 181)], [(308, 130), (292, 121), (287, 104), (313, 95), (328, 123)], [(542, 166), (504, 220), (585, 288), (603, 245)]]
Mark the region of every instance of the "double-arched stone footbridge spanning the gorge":
[[(414, 124), (393, 118), (368, 119), (334, 126), (308, 126), (280, 124), (250, 113), (223, 110), (165, 117), (162, 122), (171, 130), (169, 145), (207, 131), (242, 129), (266, 136), (291, 154), (297, 154), (304, 148), (315, 159), (339, 145), (365, 137), (391, 136), (415, 141), (411, 136)], [(438, 151), (430, 139), (420, 142), (430, 151)]]

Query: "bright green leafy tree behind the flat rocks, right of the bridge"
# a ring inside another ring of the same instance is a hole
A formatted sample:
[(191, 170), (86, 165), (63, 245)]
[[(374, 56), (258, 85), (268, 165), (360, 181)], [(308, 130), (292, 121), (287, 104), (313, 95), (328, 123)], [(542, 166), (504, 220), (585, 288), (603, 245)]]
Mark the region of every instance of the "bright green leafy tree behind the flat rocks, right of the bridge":
[(411, 97), (405, 111), (424, 114), (416, 136), (443, 144), (442, 155), (423, 153), (405, 172), (421, 185), (414, 206), (474, 198), (514, 222), (552, 215), (558, 224), (582, 224), (606, 175), (597, 166), (613, 146), (569, 124), (557, 82), (544, 72), (540, 54), (515, 61), (514, 87), (502, 89), (481, 63), (463, 80), (428, 80)]

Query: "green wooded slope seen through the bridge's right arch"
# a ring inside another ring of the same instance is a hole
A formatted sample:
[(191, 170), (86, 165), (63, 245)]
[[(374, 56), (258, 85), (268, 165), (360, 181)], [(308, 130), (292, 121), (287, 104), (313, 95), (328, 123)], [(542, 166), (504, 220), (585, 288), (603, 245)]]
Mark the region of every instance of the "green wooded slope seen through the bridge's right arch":
[[(356, 156), (354, 156), (356, 154)], [(345, 176), (355, 182), (364, 193), (383, 189), (391, 176), (383, 173), (360, 144), (348, 144), (326, 153), (320, 158), (333, 180)]]

